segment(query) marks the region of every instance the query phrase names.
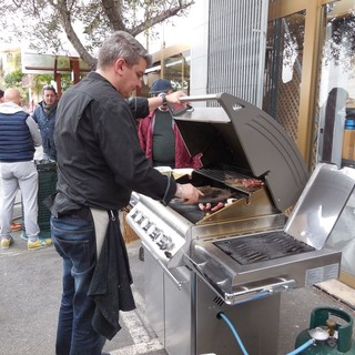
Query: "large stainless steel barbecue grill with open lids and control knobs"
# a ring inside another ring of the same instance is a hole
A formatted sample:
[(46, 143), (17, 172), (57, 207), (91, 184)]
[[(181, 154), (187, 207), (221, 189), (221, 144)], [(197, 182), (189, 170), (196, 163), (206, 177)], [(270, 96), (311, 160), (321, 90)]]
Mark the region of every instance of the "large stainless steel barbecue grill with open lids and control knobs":
[(178, 182), (204, 197), (163, 206), (133, 194), (128, 215), (145, 250), (148, 316), (170, 354), (237, 354), (221, 310), (243, 322), (250, 354), (276, 354), (280, 292), (338, 276), (341, 253), (324, 246), (354, 171), (320, 164), (308, 180), (295, 144), (265, 112), (226, 93), (186, 100), (220, 105), (174, 116), (203, 163)]

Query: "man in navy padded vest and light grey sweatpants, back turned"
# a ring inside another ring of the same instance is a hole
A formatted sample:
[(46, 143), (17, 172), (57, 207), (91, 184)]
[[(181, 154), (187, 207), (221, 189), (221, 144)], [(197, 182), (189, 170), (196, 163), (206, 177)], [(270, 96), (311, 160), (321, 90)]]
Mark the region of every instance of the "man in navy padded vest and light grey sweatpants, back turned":
[(0, 104), (1, 247), (8, 248), (13, 242), (10, 225), (20, 187), (28, 248), (38, 250), (51, 245), (50, 239), (39, 236), (38, 225), (38, 172), (33, 155), (34, 146), (41, 145), (41, 136), (36, 122), (21, 108), (20, 92), (7, 89), (3, 99)]

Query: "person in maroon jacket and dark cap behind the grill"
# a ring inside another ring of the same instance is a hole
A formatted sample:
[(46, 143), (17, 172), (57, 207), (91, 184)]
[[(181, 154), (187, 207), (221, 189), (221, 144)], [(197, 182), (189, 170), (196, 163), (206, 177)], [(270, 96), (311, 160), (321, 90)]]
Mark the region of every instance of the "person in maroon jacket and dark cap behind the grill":
[[(154, 97), (172, 92), (171, 82), (166, 79), (155, 80), (150, 90)], [(145, 119), (140, 120), (139, 138), (141, 148), (145, 156), (152, 160), (153, 166), (201, 168), (199, 155), (189, 154), (166, 103), (151, 111)]]

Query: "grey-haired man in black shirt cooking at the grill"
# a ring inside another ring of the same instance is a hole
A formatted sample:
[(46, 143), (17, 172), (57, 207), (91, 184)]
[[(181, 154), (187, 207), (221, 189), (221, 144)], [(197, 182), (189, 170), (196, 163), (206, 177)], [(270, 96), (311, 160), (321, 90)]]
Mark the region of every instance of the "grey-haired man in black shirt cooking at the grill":
[(128, 100), (142, 87), (149, 64), (142, 44), (118, 31), (103, 42), (97, 70), (68, 89), (58, 105), (58, 192), (45, 203), (63, 260), (57, 354), (101, 354), (121, 328), (119, 311), (135, 307), (118, 219), (132, 191), (164, 204), (174, 196), (195, 203), (202, 195), (158, 172), (141, 150), (135, 119), (184, 95)]

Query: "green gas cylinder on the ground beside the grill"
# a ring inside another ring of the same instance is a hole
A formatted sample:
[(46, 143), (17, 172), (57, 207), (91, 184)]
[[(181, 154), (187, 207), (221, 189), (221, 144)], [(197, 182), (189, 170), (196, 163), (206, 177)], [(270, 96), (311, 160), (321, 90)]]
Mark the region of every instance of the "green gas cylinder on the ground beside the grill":
[(313, 338), (315, 341), (314, 345), (311, 345), (300, 354), (354, 355), (355, 346), (352, 335), (353, 318), (349, 314), (338, 308), (317, 307), (312, 311), (310, 328), (298, 334), (295, 348)]

